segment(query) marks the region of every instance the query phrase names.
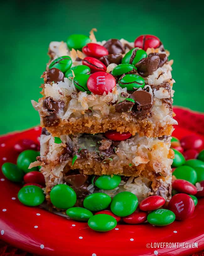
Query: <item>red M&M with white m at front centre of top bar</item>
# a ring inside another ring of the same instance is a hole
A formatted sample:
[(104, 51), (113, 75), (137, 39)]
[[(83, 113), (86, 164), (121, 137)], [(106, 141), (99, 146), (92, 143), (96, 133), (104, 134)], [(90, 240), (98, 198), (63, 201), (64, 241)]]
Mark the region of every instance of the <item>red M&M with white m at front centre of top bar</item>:
[(87, 87), (89, 91), (94, 94), (103, 95), (104, 92), (112, 92), (112, 89), (116, 86), (115, 78), (106, 72), (96, 72), (87, 80)]

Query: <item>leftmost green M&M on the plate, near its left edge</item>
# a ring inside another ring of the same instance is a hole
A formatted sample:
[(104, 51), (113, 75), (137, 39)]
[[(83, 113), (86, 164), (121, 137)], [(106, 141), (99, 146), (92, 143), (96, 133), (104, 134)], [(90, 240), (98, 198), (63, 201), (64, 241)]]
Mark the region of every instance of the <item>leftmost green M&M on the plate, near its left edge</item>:
[(2, 173), (7, 179), (13, 182), (21, 182), (24, 176), (24, 172), (16, 164), (9, 162), (2, 165)]

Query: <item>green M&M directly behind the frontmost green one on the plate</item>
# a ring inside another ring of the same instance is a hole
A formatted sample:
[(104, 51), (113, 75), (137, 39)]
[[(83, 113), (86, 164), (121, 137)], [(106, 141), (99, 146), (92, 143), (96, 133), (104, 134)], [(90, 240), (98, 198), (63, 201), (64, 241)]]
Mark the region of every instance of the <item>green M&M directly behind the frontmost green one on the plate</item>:
[(111, 202), (110, 196), (105, 193), (94, 193), (87, 196), (83, 201), (83, 207), (90, 211), (101, 211), (106, 209)]

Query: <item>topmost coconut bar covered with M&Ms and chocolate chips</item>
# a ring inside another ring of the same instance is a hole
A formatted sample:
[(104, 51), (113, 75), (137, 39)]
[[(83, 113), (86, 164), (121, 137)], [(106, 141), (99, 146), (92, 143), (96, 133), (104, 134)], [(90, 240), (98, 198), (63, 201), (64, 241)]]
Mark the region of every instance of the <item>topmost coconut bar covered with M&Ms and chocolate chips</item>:
[(97, 42), (92, 30), (90, 37), (51, 42), (48, 54), (43, 97), (32, 103), (52, 136), (107, 130), (147, 137), (172, 133), (173, 61), (158, 37)]

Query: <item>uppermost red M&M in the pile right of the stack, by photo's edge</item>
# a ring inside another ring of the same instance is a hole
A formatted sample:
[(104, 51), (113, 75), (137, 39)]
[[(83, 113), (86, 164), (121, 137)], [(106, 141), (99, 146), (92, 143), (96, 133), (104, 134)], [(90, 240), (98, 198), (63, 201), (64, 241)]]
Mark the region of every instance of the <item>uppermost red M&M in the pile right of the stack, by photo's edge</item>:
[(201, 151), (204, 147), (203, 139), (197, 135), (185, 136), (180, 140), (180, 143), (184, 150), (196, 149), (198, 151)]

